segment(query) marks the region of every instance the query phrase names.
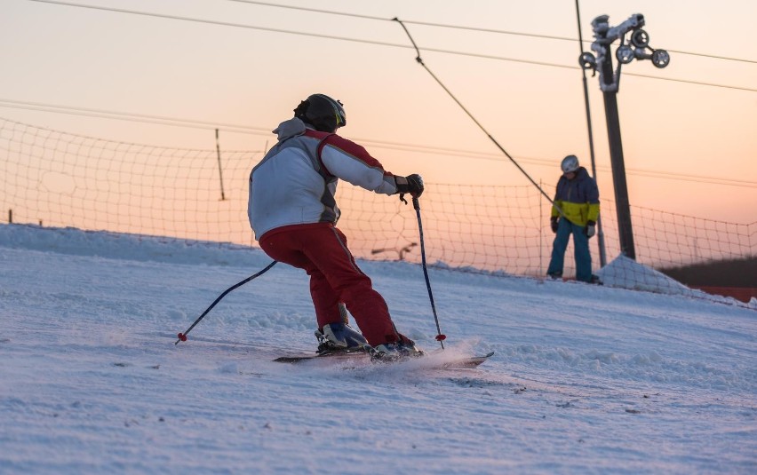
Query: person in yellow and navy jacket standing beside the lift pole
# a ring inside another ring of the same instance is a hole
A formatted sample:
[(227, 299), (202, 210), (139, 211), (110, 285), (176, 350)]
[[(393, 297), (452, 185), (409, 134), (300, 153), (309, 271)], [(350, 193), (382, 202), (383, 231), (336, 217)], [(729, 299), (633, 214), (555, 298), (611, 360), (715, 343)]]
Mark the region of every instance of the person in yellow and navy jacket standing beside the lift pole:
[(592, 274), (592, 255), (589, 252), (589, 238), (596, 233), (596, 222), (600, 212), (599, 189), (594, 178), (580, 166), (576, 155), (563, 158), (560, 168), (562, 176), (557, 181), (550, 215), (550, 226), (556, 235), (546, 273), (553, 279), (562, 278), (565, 249), (568, 247), (570, 234), (573, 234), (576, 280), (599, 283), (599, 277)]

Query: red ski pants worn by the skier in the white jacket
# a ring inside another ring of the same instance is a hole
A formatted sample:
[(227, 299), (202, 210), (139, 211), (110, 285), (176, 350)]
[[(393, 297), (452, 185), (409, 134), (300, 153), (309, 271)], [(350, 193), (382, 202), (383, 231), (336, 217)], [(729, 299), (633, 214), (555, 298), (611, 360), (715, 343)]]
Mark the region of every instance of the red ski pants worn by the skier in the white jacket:
[(331, 223), (283, 226), (263, 234), (260, 247), (279, 262), (305, 269), (318, 328), (342, 321), (344, 302), (371, 346), (403, 338), (394, 328), (384, 297), (355, 264), (347, 238)]

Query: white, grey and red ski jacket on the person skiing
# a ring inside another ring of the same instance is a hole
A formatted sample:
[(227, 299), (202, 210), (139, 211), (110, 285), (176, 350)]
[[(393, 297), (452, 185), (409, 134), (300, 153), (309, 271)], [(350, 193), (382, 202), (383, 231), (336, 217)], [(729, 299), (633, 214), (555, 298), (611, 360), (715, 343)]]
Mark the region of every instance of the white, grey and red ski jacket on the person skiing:
[(250, 173), (247, 216), (257, 240), (281, 226), (336, 224), (338, 178), (375, 193), (397, 193), (394, 175), (355, 142), (315, 131), (298, 118), (274, 133), (278, 143)]

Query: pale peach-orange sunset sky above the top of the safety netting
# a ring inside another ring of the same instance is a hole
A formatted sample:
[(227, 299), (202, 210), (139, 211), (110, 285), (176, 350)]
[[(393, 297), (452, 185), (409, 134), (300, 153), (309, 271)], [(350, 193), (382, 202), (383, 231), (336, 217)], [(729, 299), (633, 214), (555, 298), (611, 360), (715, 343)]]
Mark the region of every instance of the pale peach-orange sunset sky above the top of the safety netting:
[[(575, 1), (268, 3), (299, 9), (4, 0), (0, 116), (181, 148), (214, 149), (218, 127), (222, 149), (259, 152), (299, 100), (323, 92), (345, 104), (340, 133), (387, 170), (429, 183), (528, 185), (418, 65), (398, 17), (426, 66), (547, 194), (564, 155), (591, 170)], [(615, 26), (633, 13), (644, 15), (650, 46), (670, 51), (664, 69), (634, 60), (621, 74), (632, 207), (757, 221), (757, 3), (581, 0), (580, 9), (584, 51), (596, 16)], [(588, 75), (588, 88), (600, 190), (614, 200), (598, 76)]]

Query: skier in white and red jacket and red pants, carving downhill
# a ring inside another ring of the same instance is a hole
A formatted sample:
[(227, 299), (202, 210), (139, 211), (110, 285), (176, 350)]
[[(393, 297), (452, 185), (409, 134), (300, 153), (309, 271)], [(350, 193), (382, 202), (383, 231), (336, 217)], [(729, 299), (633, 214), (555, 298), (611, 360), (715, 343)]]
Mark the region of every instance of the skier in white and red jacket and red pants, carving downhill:
[[(419, 356), (347, 249), (347, 238), (336, 227), (334, 194), (341, 178), (378, 194), (418, 197), (423, 179), (384, 170), (363, 146), (336, 134), (346, 124), (342, 103), (324, 94), (309, 96), (293, 118), (279, 124), (278, 143), (250, 174), (250, 225), (268, 256), (310, 276), (319, 352), (367, 350), (375, 360)], [(340, 314), (342, 302), (364, 337)]]

